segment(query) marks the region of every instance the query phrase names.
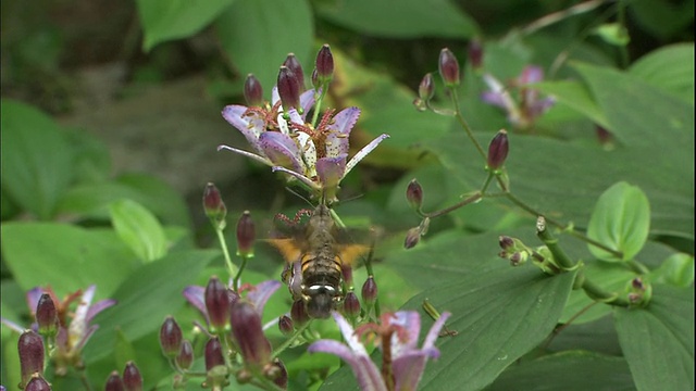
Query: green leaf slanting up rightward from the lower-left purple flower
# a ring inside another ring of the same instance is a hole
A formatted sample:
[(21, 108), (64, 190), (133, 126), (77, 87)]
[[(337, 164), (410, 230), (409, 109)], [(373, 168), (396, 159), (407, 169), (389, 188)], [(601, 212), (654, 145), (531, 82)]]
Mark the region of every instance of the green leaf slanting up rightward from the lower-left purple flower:
[(170, 253), (135, 269), (110, 294), (119, 304), (95, 318), (94, 324), (100, 328), (85, 348), (86, 361), (95, 362), (111, 354), (116, 329), (129, 341), (159, 330), (166, 315), (176, 313), (186, 303), (182, 295), (184, 288), (217, 255), (216, 251)]

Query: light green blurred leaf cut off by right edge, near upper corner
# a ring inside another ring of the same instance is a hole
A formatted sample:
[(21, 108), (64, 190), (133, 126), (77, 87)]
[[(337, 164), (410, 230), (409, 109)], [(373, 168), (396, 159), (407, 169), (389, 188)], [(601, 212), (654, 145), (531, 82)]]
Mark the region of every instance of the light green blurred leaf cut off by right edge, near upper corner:
[(629, 73), (694, 104), (694, 43), (655, 50), (638, 59)]

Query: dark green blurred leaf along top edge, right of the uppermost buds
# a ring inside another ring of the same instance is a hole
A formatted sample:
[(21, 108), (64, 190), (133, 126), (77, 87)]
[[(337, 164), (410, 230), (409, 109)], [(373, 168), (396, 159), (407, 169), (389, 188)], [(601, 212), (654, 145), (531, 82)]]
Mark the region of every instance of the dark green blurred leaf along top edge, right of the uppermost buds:
[(475, 22), (449, 0), (351, 0), (319, 3), (322, 17), (337, 25), (376, 37), (468, 38)]

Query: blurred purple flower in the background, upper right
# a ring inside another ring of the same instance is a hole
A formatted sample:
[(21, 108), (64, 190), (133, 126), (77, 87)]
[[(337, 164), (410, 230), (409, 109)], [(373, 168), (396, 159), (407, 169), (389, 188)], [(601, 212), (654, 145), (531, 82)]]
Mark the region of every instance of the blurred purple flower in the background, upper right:
[(534, 125), (536, 118), (556, 102), (552, 97), (542, 99), (538, 90), (529, 87), (530, 84), (544, 79), (544, 71), (538, 66), (526, 66), (522, 74), (510, 83), (509, 87), (518, 90), (517, 98), (513, 98), (508, 87), (495, 76), (486, 73), (483, 79), (490, 89), (482, 94), (483, 101), (505, 110), (510, 124), (520, 129), (527, 129)]

